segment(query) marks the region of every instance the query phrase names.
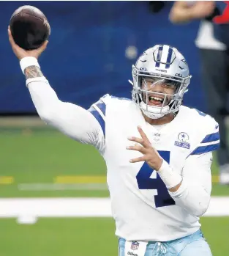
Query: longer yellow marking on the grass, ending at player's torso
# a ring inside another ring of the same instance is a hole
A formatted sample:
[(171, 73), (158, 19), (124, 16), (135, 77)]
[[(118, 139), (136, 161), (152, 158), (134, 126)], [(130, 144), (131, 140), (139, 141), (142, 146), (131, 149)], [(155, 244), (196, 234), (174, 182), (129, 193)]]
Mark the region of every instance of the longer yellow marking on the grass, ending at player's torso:
[(105, 176), (57, 176), (54, 183), (106, 183)]

